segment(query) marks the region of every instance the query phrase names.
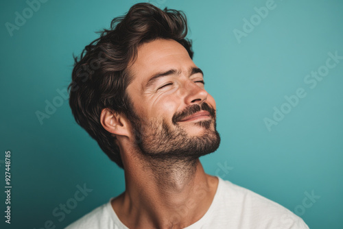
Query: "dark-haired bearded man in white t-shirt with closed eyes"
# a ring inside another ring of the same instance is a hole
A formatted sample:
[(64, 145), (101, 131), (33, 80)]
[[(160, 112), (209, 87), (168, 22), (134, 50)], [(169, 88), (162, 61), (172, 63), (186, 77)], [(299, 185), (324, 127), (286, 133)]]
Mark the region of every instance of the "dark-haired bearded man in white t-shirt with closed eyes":
[[(204, 173), (215, 100), (182, 12), (138, 3), (75, 59), (75, 120), (122, 167), (126, 191), (71, 228), (308, 228), (279, 204)], [(86, 69), (86, 70), (85, 70)]]

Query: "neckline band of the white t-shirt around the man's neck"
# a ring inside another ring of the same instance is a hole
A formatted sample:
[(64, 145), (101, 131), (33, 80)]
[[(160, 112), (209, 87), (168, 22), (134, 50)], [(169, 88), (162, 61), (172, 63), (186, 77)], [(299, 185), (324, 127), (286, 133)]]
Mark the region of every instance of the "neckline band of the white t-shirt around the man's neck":
[[(198, 228), (198, 226), (201, 226), (202, 222), (203, 221), (206, 221), (206, 219), (208, 219), (209, 217), (211, 217), (212, 213), (213, 213), (213, 208), (215, 208), (215, 205), (217, 205), (216, 203), (219, 201), (218, 199), (220, 198), (220, 193), (221, 193), (221, 190), (222, 190), (222, 183), (223, 183), (223, 180), (222, 178), (220, 178), (219, 176), (217, 176), (218, 178), (218, 184), (217, 184), (217, 189), (215, 191), (215, 195), (213, 197), (213, 200), (212, 200), (212, 203), (209, 207), (209, 209), (206, 211), (206, 213), (198, 220), (196, 221), (195, 223), (187, 226), (186, 228), (184, 229), (192, 229), (192, 228)], [(128, 228), (127, 226), (125, 226), (125, 224), (123, 224), (122, 221), (120, 221), (117, 213), (115, 213), (115, 210), (113, 209), (112, 207), (112, 200), (115, 199), (115, 197), (111, 197), (109, 202), (107, 203), (107, 209), (108, 210), (108, 213), (110, 213), (110, 217), (111, 219), (114, 221), (114, 222), (118, 222), (119, 224), (117, 225), (119, 227), (119, 229), (130, 229)]]

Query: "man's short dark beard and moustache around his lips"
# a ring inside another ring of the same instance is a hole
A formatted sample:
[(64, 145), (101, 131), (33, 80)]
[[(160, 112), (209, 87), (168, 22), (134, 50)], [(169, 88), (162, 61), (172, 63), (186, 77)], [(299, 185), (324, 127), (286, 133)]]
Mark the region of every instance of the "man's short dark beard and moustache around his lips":
[[(198, 125), (204, 130), (198, 136), (190, 136), (178, 121), (200, 110), (208, 111), (211, 119), (192, 122), (192, 125)], [(139, 149), (139, 156), (154, 166), (161, 165), (161, 162), (163, 165), (176, 165), (179, 162), (182, 165), (196, 165), (200, 156), (215, 152), (220, 145), (215, 110), (209, 104), (194, 104), (174, 114), (172, 125), (168, 125), (164, 119), (145, 121), (133, 109), (131, 115), (134, 145)]]

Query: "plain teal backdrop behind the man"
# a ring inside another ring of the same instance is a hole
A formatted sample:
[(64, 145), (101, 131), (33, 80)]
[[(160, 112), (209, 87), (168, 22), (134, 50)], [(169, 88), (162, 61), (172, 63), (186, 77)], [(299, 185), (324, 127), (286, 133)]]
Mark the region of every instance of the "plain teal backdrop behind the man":
[[(44, 228), (48, 220), (64, 228), (124, 190), (123, 171), (75, 123), (66, 99), (43, 125), (35, 112), (45, 112), (45, 101), (69, 84), (72, 53), (137, 2), (47, 1), (10, 36), (5, 23), (14, 24), (15, 12), (28, 5), (1, 1), (1, 173), (5, 150), (12, 153), (12, 224), (4, 223), (1, 191), (1, 228)], [(343, 56), (343, 2), (276, 0), (241, 43), (233, 29), (242, 30), (265, 0), (152, 3), (187, 14), (193, 60), (217, 102), (222, 144), (201, 159), (205, 171), (293, 212), (314, 191), (319, 200), (300, 217), (310, 228), (343, 228), (343, 60), (316, 88), (304, 82), (327, 53)], [(268, 131), (263, 119), (297, 88), (307, 96)], [(83, 184), (93, 191), (59, 221), (54, 208)]]

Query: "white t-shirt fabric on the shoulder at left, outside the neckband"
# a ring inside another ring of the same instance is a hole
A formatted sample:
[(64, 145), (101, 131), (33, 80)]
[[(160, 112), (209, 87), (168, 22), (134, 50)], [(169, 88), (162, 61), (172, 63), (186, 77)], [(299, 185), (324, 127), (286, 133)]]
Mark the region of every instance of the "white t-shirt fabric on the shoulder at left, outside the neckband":
[(110, 214), (108, 213), (108, 203), (106, 203), (95, 208), (77, 221), (74, 221), (66, 229), (108, 228), (108, 225), (113, 224), (111, 220)]

